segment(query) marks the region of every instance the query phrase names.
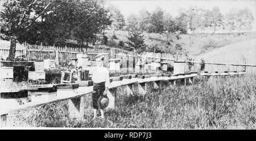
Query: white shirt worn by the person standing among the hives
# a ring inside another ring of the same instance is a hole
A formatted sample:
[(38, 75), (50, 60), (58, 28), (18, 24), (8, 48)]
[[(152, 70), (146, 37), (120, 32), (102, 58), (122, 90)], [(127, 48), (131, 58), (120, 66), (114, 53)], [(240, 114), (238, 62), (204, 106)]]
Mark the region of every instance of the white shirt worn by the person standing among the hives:
[(90, 74), (92, 74), (92, 80), (95, 83), (105, 82), (105, 86), (109, 87), (109, 70), (105, 67), (93, 67), (90, 69)]

